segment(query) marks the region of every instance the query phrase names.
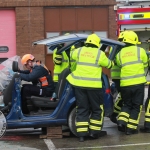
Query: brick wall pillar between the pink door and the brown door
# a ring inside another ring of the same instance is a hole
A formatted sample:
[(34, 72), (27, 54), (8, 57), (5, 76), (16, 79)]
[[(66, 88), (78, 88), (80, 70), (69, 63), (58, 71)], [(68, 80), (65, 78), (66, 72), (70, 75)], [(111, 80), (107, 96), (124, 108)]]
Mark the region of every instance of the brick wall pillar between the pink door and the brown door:
[(34, 54), (45, 62), (44, 46), (32, 46), (32, 42), (44, 38), (43, 7), (16, 7), (17, 54)]

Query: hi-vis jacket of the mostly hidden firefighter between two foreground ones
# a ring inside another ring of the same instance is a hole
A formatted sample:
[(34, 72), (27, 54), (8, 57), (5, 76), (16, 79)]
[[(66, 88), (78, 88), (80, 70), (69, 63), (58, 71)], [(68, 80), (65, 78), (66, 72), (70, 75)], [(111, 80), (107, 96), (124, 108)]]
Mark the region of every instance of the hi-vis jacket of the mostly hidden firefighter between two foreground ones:
[[(112, 51), (112, 47), (109, 51), (109, 54), (111, 53)], [(112, 79), (120, 79), (120, 73), (121, 73), (121, 68), (118, 67), (117, 65), (114, 65), (112, 68), (111, 68), (111, 78)]]

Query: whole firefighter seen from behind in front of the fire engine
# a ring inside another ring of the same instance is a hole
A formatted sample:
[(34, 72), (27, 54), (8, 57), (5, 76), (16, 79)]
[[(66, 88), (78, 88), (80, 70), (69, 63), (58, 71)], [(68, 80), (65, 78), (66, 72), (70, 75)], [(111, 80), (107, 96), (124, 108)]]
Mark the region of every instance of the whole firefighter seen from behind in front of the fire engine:
[(144, 99), (146, 82), (144, 68), (148, 65), (146, 52), (137, 47), (138, 36), (133, 31), (125, 31), (125, 47), (117, 54), (116, 62), (121, 67), (120, 86), (123, 106), (118, 117), (118, 130), (127, 135), (137, 134)]

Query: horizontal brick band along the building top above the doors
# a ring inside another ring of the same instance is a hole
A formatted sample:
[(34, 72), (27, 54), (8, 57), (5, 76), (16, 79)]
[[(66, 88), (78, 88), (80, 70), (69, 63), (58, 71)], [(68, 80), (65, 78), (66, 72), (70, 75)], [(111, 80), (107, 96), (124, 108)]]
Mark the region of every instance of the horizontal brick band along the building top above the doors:
[(115, 0), (1, 0), (0, 7), (115, 5)]

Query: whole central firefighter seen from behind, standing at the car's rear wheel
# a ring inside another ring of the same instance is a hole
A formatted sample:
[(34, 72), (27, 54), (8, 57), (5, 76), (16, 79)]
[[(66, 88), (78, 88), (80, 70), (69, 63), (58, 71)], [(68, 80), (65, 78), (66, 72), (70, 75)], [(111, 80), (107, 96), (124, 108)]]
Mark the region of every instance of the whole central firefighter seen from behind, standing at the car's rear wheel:
[(99, 47), (100, 38), (96, 34), (91, 34), (85, 46), (75, 49), (71, 55), (77, 65), (67, 76), (67, 80), (75, 89), (76, 127), (80, 142), (83, 142), (87, 135), (99, 138), (102, 129), (104, 116), (102, 66), (111, 68), (112, 62)]

